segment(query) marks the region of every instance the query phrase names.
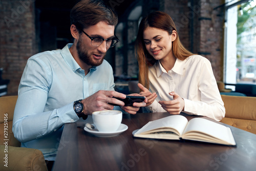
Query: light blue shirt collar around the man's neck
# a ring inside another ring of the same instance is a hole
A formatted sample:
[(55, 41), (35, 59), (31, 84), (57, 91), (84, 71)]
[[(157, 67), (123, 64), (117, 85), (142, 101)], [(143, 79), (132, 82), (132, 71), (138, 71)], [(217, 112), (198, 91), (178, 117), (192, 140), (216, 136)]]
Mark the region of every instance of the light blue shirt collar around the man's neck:
[[(81, 67), (78, 65), (78, 63), (76, 62), (76, 60), (70, 53), (69, 48), (72, 45), (73, 44), (67, 44), (63, 49), (61, 49), (60, 53), (61, 53), (63, 59), (67, 62), (68, 66), (72, 69), (72, 71), (76, 72), (76, 70), (81, 69)], [(97, 69), (96, 67), (92, 67), (92, 68), (90, 68), (90, 71), (93, 72), (96, 69)]]

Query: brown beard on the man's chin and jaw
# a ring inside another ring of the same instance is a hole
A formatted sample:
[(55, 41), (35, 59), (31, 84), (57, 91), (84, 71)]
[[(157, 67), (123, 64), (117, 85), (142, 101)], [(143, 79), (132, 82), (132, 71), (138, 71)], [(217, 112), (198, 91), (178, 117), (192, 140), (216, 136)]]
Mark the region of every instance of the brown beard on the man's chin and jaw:
[(79, 59), (81, 59), (84, 63), (86, 63), (87, 65), (89, 66), (92, 66), (92, 67), (97, 67), (99, 65), (101, 65), (101, 63), (103, 62), (103, 59), (105, 57), (105, 54), (104, 56), (99, 59), (99, 60), (96, 60), (94, 61), (92, 59), (92, 55), (88, 54), (88, 51), (84, 50), (83, 46), (82, 46), (82, 42), (80, 41), (80, 38), (78, 39), (78, 42), (77, 42), (77, 45), (76, 45), (76, 50), (77, 50), (77, 53), (78, 53), (78, 57)]

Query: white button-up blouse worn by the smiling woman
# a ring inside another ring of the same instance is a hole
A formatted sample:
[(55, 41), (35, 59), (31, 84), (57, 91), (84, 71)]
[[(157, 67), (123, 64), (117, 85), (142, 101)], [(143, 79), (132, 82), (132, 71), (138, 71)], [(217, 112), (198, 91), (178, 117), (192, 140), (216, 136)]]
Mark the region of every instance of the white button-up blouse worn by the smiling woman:
[(150, 105), (153, 112), (166, 112), (158, 101), (173, 100), (169, 92), (184, 99), (184, 113), (221, 120), (225, 116), (224, 103), (212, 72), (210, 61), (200, 55), (177, 59), (172, 70), (166, 72), (160, 61), (148, 68), (150, 92), (157, 98)]

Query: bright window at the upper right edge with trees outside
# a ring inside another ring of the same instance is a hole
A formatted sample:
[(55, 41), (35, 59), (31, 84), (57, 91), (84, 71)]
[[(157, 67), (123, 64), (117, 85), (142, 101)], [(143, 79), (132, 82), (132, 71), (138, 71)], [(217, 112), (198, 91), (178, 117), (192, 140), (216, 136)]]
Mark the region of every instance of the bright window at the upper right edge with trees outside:
[(255, 6), (255, 0), (226, 1), (225, 83), (256, 82)]

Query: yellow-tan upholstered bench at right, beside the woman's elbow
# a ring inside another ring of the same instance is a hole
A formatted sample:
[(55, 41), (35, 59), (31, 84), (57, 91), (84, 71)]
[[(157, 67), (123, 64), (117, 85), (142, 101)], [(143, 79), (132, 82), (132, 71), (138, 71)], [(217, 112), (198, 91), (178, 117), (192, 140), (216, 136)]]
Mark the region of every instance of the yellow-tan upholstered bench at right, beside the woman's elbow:
[(221, 122), (256, 134), (256, 97), (221, 95), (226, 109)]

